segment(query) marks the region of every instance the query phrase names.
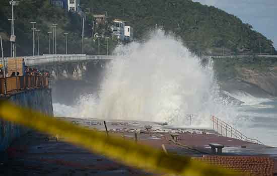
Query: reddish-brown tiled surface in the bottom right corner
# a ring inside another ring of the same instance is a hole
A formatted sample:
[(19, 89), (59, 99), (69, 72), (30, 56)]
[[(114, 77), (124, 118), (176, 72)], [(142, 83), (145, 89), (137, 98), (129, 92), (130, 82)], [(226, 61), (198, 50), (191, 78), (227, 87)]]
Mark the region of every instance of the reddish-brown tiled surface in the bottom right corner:
[(230, 170), (248, 172), (251, 176), (273, 176), (274, 160), (264, 156), (208, 156), (194, 157)]

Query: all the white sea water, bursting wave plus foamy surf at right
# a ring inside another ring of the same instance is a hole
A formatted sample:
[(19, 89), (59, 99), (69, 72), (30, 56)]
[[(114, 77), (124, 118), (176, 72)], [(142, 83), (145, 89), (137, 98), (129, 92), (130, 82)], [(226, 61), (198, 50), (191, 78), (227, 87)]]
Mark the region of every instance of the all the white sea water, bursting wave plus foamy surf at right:
[[(157, 30), (145, 43), (118, 46), (105, 67), (100, 91), (83, 95), (74, 106), (53, 104), (55, 116), (167, 122), (176, 127), (211, 128), (211, 116), (248, 137), (277, 146), (276, 102), (243, 92), (221, 97), (213, 61), (201, 64), (182, 42)], [(192, 124), (187, 115), (192, 114)], [(276, 124), (276, 123), (275, 123)], [(270, 126), (267, 128), (267, 126)]]

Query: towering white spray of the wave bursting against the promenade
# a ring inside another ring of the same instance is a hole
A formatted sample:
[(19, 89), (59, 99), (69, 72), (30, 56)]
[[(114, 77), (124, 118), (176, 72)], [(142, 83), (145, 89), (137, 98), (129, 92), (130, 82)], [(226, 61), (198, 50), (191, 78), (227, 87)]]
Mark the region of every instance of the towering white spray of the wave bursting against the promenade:
[(223, 120), (236, 116), (219, 96), (213, 63), (203, 67), (182, 42), (163, 31), (144, 44), (119, 46), (115, 54), (118, 58), (106, 67), (99, 102), (95, 96), (82, 97), (73, 107), (74, 116), (185, 126), (185, 115), (196, 114), (192, 125), (201, 127), (210, 126), (211, 115)]

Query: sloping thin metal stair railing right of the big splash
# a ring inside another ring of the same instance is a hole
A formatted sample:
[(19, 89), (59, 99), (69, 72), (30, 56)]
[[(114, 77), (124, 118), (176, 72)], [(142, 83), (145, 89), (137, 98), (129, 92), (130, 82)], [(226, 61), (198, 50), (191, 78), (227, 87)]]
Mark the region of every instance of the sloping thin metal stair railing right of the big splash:
[(221, 134), (222, 136), (231, 137), (234, 139), (239, 139), (239, 140), (263, 145), (261, 141), (246, 137), (241, 132), (233, 128), (231, 125), (216, 118), (215, 116), (212, 116), (211, 121), (213, 123), (213, 129), (217, 131), (219, 134)]

